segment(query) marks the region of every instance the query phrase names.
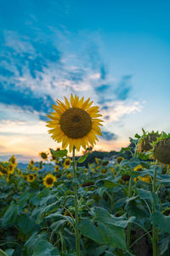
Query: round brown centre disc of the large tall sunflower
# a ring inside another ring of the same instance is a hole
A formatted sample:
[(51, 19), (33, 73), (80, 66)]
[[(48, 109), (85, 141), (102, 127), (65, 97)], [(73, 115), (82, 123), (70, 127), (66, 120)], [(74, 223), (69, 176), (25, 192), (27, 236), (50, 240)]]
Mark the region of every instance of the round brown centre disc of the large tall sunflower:
[(92, 128), (90, 115), (82, 108), (69, 108), (61, 115), (60, 128), (67, 137), (85, 137)]

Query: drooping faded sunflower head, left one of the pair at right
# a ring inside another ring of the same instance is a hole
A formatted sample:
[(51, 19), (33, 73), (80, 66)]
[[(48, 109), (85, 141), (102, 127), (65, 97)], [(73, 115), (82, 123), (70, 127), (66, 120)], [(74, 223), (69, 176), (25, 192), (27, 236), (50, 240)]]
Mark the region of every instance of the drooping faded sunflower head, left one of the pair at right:
[(149, 151), (152, 148), (151, 143), (156, 142), (157, 137), (161, 137), (158, 131), (148, 132), (143, 130), (143, 136), (139, 138), (137, 151), (139, 153)]

